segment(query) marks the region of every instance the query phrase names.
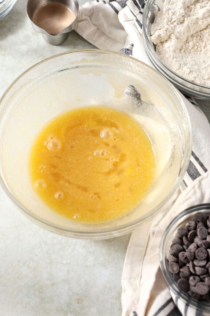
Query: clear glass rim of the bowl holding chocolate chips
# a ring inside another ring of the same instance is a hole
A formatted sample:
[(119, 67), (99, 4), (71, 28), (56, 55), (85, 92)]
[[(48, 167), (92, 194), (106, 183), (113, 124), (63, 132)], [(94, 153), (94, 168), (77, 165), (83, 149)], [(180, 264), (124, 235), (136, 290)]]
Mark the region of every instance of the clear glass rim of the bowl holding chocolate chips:
[[(165, 264), (165, 258), (164, 258), (164, 245), (167, 240), (167, 236), (171, 229), (173, 229), (174, 225), (184, 216), (189, 215), (195, 211), (201, 211), (201, 210), (210, 210), (210, 203), (204, 203), (204, 204), (197, 204), (194, 206), (191, 206), (181, 213), (179, 213), (174, 219), (169, 223), (169, 225), (166, 228), (165, 233), (162, 236), (161, 243), (160, 243), (160, 251), (159, 251), (159, 261), (160, 261), (160, 268), (162, 270), (162, 274), (166, 280), (167, 285), (169, 286), (172, 291), (179, 296), (179, 299), (183, 301), (184, 303), (188, 302), (189, 305), (196, 307), (197, 309), (201, 311), (207, 311), (210, 312), (210, 304), (205, 304), (201, 301), (195, 300), (193, 298), (189, 298), (187, 294), (184, 293), (184, 291), (181, 291), (178, 286), (176, 285), (175, 280), (173, 279), (173, 276), (171, 272), (168, 270), (167, 265)], [(177, 227), (178, 228), (178, 227)]]

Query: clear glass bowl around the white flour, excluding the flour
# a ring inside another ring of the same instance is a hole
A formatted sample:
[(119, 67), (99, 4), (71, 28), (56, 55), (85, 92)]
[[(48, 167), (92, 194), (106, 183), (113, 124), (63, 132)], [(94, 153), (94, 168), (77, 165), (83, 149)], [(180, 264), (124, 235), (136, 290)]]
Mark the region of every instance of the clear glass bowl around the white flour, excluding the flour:
[(158, 8), (163, 6), (164, 0), (148, 0), (143, 13), (143, 43), (145, 51), (157, 71), (174, 84), (182, 93), (190, 95), (196, 99), (210, 99), (210, 87), (187, 80), (169, 69), (155, 52), (154, 44), (151, 40), (151, 25), (154, 22)]

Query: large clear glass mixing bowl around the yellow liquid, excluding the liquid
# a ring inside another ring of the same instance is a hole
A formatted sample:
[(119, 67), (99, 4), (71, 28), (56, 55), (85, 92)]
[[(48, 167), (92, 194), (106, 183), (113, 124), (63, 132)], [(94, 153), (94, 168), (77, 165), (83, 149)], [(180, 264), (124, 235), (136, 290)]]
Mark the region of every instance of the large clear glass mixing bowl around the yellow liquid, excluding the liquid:
[[(126, 94), (132, 85), (141, 101)], [(52, 118), (81, 106), (130, 113), (149, 135), (156, 155), (154, 180), (127, 215), (99, 224), (73, 222), (51, 210), (33, 190), (31, 144)], [(37, 224), (78, 238), (103, 239), (132, 231), (165, 206), (178, 189), (191, 154), (188, 113), (177, 90), (158, 72), (126, 55), (66, 52), (26, 70), (0, 100), (0, 181), (8, 196)]]

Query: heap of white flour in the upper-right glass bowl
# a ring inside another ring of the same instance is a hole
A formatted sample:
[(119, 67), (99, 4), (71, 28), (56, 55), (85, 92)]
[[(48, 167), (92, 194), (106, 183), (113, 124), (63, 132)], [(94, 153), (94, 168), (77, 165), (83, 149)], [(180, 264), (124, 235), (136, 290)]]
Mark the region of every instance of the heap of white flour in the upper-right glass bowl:
[(165, 0), (151, 35), (168, 68), (210, 86), (210, 0)]

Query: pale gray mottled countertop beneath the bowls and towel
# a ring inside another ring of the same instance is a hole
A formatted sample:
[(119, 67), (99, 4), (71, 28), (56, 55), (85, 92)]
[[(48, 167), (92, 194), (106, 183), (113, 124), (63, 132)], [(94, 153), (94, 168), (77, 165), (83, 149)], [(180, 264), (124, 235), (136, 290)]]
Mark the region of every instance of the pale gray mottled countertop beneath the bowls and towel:
[[(50, 46), (33, 31), (25, 4), (18, 0), (0, 20), (0, 95), (44, 58), (94, 48), (74, 31), (60, 46)], [(210, 120), (210, 101), (198, 104)], [(62, 237), (26, 219), (2, 189), (0, 205), (1, 316), (121, 314), (121, 276), (130, 235), (103, 241)]]

